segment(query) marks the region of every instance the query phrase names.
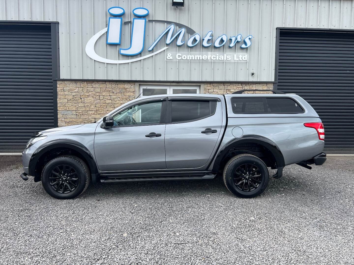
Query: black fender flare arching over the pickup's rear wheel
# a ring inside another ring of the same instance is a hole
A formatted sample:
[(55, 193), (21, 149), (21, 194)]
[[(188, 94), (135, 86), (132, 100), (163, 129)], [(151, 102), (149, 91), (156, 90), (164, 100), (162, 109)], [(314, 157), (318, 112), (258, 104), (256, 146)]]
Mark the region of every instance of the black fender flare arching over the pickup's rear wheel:
[(260, 136), (260, 135), (244, 135), (240, 138), (235, 138), (227, 142), (218, 152), (215, 158), (215, 162), (213, 164), (213, 172), (217, 172), (219, 170), (220, 164), (224, 157), (228, 154), (228, 151), (242, 143), (257, 143), (269, 150), (275, 158), (277, 167), (284, 167), (284, 157), (281, 153), (279, 147), (270, 139)]

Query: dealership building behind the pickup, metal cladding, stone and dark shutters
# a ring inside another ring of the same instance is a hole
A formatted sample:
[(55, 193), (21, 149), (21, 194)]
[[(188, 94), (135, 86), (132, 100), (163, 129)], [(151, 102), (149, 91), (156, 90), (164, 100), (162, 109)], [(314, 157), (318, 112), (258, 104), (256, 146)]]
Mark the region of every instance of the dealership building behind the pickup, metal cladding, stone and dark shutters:
[(2, 0), (0, 153), (138, 96), (277, 89), (354, 154), (353, 25), (353, 0)]

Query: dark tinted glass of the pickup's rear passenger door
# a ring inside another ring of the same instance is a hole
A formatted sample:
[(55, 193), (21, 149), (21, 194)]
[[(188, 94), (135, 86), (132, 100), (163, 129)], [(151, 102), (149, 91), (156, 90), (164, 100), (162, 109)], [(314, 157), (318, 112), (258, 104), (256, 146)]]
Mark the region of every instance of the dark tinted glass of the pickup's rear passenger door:
[(214, 114), (216, 101), (172, 100), (172, 122), (186, 122)]

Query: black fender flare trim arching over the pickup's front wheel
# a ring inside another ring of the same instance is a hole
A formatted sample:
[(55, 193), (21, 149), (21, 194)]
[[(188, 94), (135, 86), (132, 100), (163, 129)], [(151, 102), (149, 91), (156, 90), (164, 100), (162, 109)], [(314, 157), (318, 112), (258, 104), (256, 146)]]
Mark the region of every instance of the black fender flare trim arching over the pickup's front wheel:
[(76, 152), (79, 152), (82, 155), (82, 157), (84, 157), (85, 160), (87, 161), (88, 164), (87, 166), (89, 166), (89, 169), (91, 171), (91, 176), (98, 174), (97, 165), (95, 159), (93, 158), (93, 155), (91, 154), (89, 149), (87, 149), (82, 143), (71, 139), (56, 139), (44, 143), (39, 148), (37, 148), (36, 151), (32, 154), (32, 157), (29, 160), (28, 171), (29, 171), (29, 175), (35, 177), (35, 181), (39, 181), (41, 177), (41, 176), (37, 176), (38, 172), (36, 172), (36, 165), (39, 159), (42, 157), (44, 153), (55, 148), (69, 148), (75, 150)]

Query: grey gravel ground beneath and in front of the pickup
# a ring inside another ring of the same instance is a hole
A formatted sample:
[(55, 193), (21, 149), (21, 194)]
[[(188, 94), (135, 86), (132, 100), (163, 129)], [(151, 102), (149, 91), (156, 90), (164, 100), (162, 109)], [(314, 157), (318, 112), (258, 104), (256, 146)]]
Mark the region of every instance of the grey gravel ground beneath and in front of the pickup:
[(354, 264), (353, 161), (287, 166), (253, 199), (218, 178), (91, 184), (73, 200), (7, 161), (0, 264)]

